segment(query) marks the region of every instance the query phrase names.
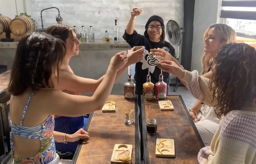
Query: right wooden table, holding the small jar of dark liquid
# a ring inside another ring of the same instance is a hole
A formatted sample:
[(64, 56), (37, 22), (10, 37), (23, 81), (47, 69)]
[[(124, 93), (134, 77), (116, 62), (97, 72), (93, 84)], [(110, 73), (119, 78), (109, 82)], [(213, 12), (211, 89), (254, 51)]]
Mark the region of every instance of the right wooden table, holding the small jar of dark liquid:
[[(181, 95), (167, 96), (172, 101), (174, 111), (161, 111), (158, 100), (144, 100), (141, 97), (142, 142), (144, 164), (195, 164), (199, 150), (204, 147), (196, 126)], [(147, 134), (146, 120), (157, 119), (157, 133)], [(175, 158), (155, 156), (157, 138), (174, 139)]]

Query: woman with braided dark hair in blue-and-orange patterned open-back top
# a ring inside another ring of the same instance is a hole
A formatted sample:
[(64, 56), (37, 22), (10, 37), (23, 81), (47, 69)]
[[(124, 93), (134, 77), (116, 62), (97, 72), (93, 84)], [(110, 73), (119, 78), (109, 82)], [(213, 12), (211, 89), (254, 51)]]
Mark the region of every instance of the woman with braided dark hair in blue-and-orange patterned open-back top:
[(50, 80), (59, 78), (65, 52), (65, 43), (61, 39), (44, 32), (27, 34), (18, 44), (8, 85), (12, 95), (11, 154), (15, 164), (59, 163), (54, 141), (66, 143), (68, 138), (58, 133), (54, 133), (53, 138), (53, 115), (77, 117), (101, 110), (110, 95), (117, 71), (128, 60), (124, 52), (113, 56), (92, 97), (71, 95), (53, 89)]

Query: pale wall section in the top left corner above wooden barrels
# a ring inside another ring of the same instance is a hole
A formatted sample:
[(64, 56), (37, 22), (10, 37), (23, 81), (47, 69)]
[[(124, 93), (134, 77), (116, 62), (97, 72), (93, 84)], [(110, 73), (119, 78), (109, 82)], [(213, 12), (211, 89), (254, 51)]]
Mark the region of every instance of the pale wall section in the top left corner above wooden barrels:
[[(17, 0), (18, 11), (31, 15), (31, 0)], [(14, 19), (17, 15), (15, 0), (0, 0), (0, 13)]]

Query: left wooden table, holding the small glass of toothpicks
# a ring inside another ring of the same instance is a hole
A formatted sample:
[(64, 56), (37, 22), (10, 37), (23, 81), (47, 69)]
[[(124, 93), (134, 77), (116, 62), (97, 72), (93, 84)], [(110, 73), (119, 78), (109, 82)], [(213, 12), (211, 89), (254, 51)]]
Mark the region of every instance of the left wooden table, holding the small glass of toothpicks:
[[(132, 164), (140, 164), (140, 132), (138, 95), (127, 100), (124, 95), (110, 95), (108, 101), (116, 102), (116, 112), (90, 114), (84, 130), (90, 139), (78, 145), (71, 164), (110, 164), (115, 144), (132, 145)], [(123, 109), (135, 109), (133, 123), (124, 124)]]

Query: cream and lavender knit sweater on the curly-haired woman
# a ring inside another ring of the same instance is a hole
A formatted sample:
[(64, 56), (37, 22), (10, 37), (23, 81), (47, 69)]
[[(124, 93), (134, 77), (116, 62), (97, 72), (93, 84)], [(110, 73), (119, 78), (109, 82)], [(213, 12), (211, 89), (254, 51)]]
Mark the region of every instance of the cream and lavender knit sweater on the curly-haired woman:
[[(197, 99), (213, 106), (209, 95), (209, 79), (197, 71), (186, 71), (182, 79)], [(232, 110), (222, 119), (211, 146), (198, 153), (199, 164), (256, 164), (256, 104)]]

